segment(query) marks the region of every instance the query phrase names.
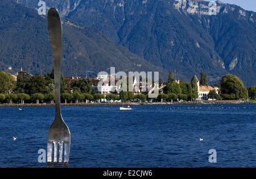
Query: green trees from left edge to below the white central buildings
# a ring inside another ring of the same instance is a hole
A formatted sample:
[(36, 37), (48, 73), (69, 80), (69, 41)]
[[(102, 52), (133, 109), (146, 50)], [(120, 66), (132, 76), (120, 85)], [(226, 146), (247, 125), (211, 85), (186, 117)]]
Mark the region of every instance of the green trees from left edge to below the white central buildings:
[[(96, 93), (92, 89), (92, 81), (89, 78), (81, 78), (67, 86), (61, 74), (61, 101), (63, 103), (80, 103), (106, 99), (110, 102), (121, 100), (144, 101), (146, 95), (132, 92), (117, 92), (110, 94)], [(0, 71), (0, 103), (53, 103), (54, 94), (54, 72), (46, 73), (44, 76), (36, 74), (32, 76), (28, 72), (19, 72), (17, 80), (10, 73)]]

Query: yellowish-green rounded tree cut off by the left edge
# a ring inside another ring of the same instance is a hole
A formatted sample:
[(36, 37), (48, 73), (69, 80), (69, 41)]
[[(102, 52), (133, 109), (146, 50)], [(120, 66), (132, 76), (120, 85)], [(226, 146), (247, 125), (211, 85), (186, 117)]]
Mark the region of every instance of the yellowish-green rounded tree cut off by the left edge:
[(10, 73), (0, 71), (0, 93), (8, 94), (16, 87), (14, 77)]

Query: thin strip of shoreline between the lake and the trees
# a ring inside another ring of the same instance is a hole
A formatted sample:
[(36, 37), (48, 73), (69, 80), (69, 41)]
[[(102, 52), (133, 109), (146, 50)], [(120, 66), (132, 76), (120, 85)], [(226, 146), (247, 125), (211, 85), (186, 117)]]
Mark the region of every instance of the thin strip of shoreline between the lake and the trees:
[[(254, 104), (256, 101), (221, 100), (221, 101), (195, 101), (195, 102), (127, 102), (127, 103), (61, 103), (61, 106), (122, 106), (122, 105), (213, 105), (213, 104)], [(25, 103), (0, 104), (0, 107), (45, 107), (55, 106), (55, 103)]]

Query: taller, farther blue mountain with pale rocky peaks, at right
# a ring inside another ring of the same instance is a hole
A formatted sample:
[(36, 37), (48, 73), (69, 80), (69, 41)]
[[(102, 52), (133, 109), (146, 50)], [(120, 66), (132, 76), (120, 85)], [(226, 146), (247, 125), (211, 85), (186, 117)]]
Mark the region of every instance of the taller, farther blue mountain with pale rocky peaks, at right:
[[(36, 8), (35, 1), (17, 0)], [(61, 14), (90, 26), (130, 52), (189, 80), (207, 72), (213, 83), (226, 73), (256, 85), (255, 13), (200, 0), (45, 0)]]

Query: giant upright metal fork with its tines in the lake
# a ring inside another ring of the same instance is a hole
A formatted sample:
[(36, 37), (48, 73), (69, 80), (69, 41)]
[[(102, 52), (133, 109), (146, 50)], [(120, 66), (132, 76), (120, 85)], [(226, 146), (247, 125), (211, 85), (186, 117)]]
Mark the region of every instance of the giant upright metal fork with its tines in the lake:
[(69, 161), (71, 136), (70, 131), (61, 116), (60, 107), (60, 61), (61, 61), (61, 43), (62, 43), (62, 27), (61, 19), (58, 11), (51, 8), (48, 11), (48, 30), (51, 40), (54, 81), (55, 81), (55, 120), (53, 121), (48, 132), (47, 143), (47, 163), (52, 162), (52, 147), (53, 161), (57, 163), (57, 151), (59, 150), (59, 163), (63, 159), (63, 145), (64, 145), (64, 163)]

